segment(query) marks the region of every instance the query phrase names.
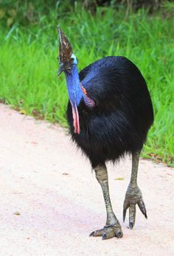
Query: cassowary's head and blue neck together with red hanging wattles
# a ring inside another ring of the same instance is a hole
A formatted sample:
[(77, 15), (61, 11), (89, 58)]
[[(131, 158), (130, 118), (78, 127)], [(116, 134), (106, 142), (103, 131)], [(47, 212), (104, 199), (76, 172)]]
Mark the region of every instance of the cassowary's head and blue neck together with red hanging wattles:
[(59, 33), (59, 70), (58, 75), (64, 72), (66, 75), (66, 85), (69, 92), (69, 100), (72, 104), (72, 116), (74, 120), (74, 133), (80, 134), (80, 122), (78, 114), (78, 105), (83, 97), (83, 91), (80, 86), (80, 78), (77, 70), (77, 58), (72, 52), (72, 45), (69, 39), (58, 27)]

